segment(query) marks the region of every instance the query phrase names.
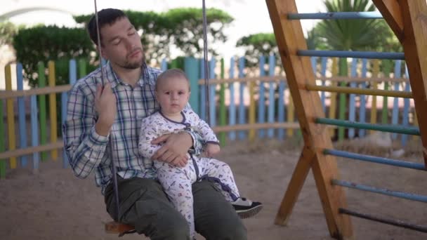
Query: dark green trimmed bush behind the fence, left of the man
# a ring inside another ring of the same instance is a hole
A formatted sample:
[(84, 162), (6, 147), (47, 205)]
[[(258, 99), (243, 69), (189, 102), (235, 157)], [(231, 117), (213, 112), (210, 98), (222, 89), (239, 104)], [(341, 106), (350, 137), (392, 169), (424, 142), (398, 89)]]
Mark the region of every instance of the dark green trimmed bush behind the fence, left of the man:
[[(57, 63), (56, 84), (68, 82), (68, 60), (84, 58), (93, 62), (95, 50), (85, 29), (57, 26), (36, 26), (21, 29), (13, 37), (13, 48), (18, 62), (22, 63), (24, 78), (30, 86), (37, 86), (37, 63), (49, 60)], [(47, 66), (46, 66), (47, 67)]]

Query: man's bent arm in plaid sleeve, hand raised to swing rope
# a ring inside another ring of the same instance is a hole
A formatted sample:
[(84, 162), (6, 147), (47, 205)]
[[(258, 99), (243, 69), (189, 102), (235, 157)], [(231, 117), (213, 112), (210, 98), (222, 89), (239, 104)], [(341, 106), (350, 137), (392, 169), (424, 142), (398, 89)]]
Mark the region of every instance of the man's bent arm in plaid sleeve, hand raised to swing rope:
[[(112, 108), (112, 101), (100, 99), (102, 95), (104, 98), (110, 96), (107, 92), (111, 93), (111, 88), (109, 86), (106, 88), (108, 89), (105, 89), (105, 94), (100, 93), (103, 91), (100, 86), (96, 89), (95, 94), (89, 86), (74, 86), (70, 91), (63, 136), (70, 166), (74, 175), (79, 178), (86, 178), (93, 168), (96, 168), (103, 158), (107, 157), (105, 147), (109, 137), (110, 121), (100, 115), (97, 117), (96, 114), (97, 107), (103, 107), (98, 104), (102, 100), (104, 105), (110, 105), (109, 107)], [(96, 121), (96, 119), (98, 120)]]

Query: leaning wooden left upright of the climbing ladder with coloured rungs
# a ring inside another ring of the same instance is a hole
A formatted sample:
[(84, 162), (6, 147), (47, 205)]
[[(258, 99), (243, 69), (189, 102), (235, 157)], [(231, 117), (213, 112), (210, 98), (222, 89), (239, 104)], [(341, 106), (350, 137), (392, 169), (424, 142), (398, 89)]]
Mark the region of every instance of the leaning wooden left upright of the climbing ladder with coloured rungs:
[[(313, 164), (317, 166), (317, 171), (313, 171), (313, 174), (317, 179), (317, 190), (322, 199), (329, 233), (336, 239), (351, 238), (353, 230), (350, 218), (338, 213), (338, 208), (347, 205), (346, 197), (340, 187), (331, 186), (331, 179), (338, 178), (336, 159), (323, 155), (321, 151), (316, 152), (316, 149), (329, 149), (332, 143), (327, 128), (314, 123), (316, 117), (324, 116), (319, 94), (303, 89), (307, 84), (315, 84), (315, 76), (310, 58), (296, 55), (298, 50), (306, 50), (307, 45), (301, 22), (287, 19), (287, 14), (298, 12), (295, 1), (266, 0), (266, 2), (304, 142), (315, 154)], [(289, 188), (298, 189), (298, 186), (293, 185)], [(284, 215), (282, 218), (286, 219), (288, 216)]]

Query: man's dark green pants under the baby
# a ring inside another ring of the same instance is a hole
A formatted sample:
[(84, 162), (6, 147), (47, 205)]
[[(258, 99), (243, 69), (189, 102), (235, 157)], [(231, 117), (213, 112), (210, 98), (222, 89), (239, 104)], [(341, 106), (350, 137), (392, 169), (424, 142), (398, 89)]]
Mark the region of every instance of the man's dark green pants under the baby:
[[(138, 234), (152, 240), (188, 240), (190, 231), (183, 218), (169, 202), (157, 180), (117, 177), (119, 188), (119, 222), (135, 226)], [(195, 229), (207, 240), (247, 239), (247, 229), (234, 208), (212, 183), (195, 182)], [(107, 212), (117, 220), (112, 185), (105, 189)]]

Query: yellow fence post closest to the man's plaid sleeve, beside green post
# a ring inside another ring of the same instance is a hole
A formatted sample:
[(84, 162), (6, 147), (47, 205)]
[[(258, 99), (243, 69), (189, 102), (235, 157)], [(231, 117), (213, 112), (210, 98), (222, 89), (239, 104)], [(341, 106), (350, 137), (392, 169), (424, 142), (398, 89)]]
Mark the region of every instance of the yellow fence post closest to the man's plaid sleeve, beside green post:
[[(48, 84), (49, 87), (55, 87), (55, 62), (52, 60), (48, 62)], [(51, 142), (57, 142), (58, 126), (56, 122), (56, 94), (49, 93), (49, 118), (51, 119)], [(51, 158), (58, 159), (58, 150), (51, 151)]]

